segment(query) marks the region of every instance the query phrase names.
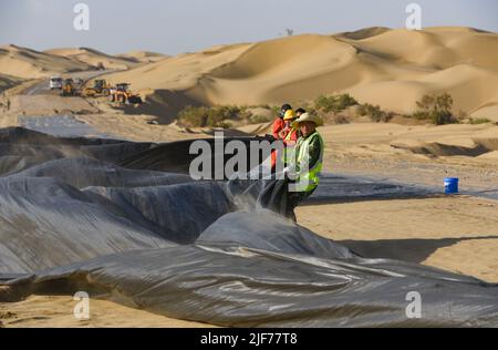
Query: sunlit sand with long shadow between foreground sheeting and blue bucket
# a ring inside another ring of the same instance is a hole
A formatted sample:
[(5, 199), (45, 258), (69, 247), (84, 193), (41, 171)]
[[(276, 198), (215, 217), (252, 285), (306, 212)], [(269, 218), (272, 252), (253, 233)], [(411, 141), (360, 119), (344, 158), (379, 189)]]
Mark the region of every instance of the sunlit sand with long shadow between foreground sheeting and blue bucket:
[(298, 222), (360, 255), (498, 282), (498, 202), (468, 196), (301, 206)]

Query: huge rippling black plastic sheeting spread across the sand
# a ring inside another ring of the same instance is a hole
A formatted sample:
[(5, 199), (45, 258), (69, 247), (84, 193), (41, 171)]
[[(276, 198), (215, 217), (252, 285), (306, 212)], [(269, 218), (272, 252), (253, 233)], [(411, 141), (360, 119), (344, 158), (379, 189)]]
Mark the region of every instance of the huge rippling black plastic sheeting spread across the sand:
[[(498, 326), (498, 286), (360, 257), (281, 216), (282, 182), (193, 182), (188, 144), (1, 130), (0, 301), (86, 291), (219, 326)], [(310, 200), (415, 193), (328, 176)]]

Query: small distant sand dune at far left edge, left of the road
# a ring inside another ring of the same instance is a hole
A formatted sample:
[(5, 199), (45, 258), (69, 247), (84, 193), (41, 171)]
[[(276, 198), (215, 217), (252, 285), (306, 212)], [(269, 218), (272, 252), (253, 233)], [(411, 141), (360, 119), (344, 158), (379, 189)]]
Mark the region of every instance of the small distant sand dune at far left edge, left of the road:
[(38, 79), (51, 74), (93, 69), (91, 65), (17, 45), (0, 48), (0, 74)]

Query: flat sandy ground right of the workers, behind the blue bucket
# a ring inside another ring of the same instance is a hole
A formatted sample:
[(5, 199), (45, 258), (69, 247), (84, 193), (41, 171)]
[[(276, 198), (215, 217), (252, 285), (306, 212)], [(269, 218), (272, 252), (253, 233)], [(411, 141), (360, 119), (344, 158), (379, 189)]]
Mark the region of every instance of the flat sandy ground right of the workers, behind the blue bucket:
[(498, 198), (498, 126), (357, 123), (321, 128), (325, 169), (440, 188), (456, 176), (465, 193)]

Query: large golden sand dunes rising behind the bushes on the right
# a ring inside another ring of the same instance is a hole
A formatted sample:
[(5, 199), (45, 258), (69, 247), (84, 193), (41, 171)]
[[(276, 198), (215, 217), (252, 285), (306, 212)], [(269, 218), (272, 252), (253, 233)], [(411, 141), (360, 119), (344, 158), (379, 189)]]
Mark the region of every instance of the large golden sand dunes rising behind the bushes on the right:
[(448, 92), (455, 113), (492, 120), (497, 56), (496, 33), (450, 27), (369, 28), (219, 45), (110, 78), (129, 81), (165, 106), (164, 91), (208, 105), (298, 103), (349, 92), (362, 103), (407, 114), (424, 94)]

